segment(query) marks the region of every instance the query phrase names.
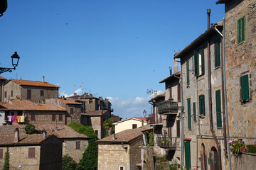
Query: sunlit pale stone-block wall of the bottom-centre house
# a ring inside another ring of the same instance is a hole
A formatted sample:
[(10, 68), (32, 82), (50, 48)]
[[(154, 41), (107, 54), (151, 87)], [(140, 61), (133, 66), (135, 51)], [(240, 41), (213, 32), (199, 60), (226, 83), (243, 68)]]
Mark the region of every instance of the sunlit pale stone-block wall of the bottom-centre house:
[(98, 170), (119, 169), (119, 166), (124, 166), (125, 170), (130, 170), (129, 154), (130, 149), (127, 144), (98, 145)]

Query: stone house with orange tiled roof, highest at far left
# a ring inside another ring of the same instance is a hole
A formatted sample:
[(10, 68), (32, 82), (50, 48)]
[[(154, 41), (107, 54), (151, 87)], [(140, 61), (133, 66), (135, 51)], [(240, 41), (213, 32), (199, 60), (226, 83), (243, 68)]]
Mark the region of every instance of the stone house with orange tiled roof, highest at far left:
[(12, 99), (41, 102), (48, 98), (58, 98), (59, 86), (44, 81), (10, 79), (4, 83), (4, 102)]

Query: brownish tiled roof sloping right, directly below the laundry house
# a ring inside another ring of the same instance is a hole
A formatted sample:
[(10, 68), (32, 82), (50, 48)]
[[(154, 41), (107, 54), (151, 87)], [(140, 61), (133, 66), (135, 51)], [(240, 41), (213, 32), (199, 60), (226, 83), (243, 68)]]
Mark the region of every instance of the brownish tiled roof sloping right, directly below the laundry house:
[(78, 132), (75, 132), (72, 128), (70, 128), (67, 125), (58, 125), (57, 130), (55, 129), (55, 125), (53, 124), (36, 124), (36, 130), (46, 130), (48, 134), (50, 135), (55, 135), (59, 138), (90, 138), (87, 137), (86, 135), (80, 134)]

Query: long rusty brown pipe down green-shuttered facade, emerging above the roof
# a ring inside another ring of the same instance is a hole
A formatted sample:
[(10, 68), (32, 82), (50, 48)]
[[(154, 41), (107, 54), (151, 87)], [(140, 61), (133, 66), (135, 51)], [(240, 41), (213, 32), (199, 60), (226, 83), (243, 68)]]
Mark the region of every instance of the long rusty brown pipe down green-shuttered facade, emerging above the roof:
[[(210, 28), (210, 9), (207, 9), (208, 14), (208, 29)], [(221, 166), (221, 150), (220, 150), (220, 144), (218, 142), (218, 139), (215, 135), (215, 132), (213, 130), (213, 112), (212, 112), (212, 98), (211, 98), (211, 74), (210, 74), (210, 38), (208, 38), (207, 41), (207, 51), (208, 51), (208, 100), (209, 100), (209, 115), (210, 115), (210, 132), (213, 135), (213, 138), (215, 140), (215, 143), (218, 147), (218, 159), (219, 159), (219, 170), (222, 169)]]

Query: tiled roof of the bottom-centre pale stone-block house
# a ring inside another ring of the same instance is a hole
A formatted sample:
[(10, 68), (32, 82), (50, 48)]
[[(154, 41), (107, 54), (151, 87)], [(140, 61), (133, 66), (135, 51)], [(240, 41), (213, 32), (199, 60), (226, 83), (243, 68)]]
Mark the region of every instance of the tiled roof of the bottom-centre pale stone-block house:
[(112, 144), (112, 143), (129, 143), (134, 140), (137, 140), (139, 137), (142, 137), (142, 131), (151, 130), (151, 128), (137, 128), (137, 129), (128, 129), (123, 130), (115, 134), (115, 139), (113, 140), (113, 135), (97, 140), (98, 144)]

